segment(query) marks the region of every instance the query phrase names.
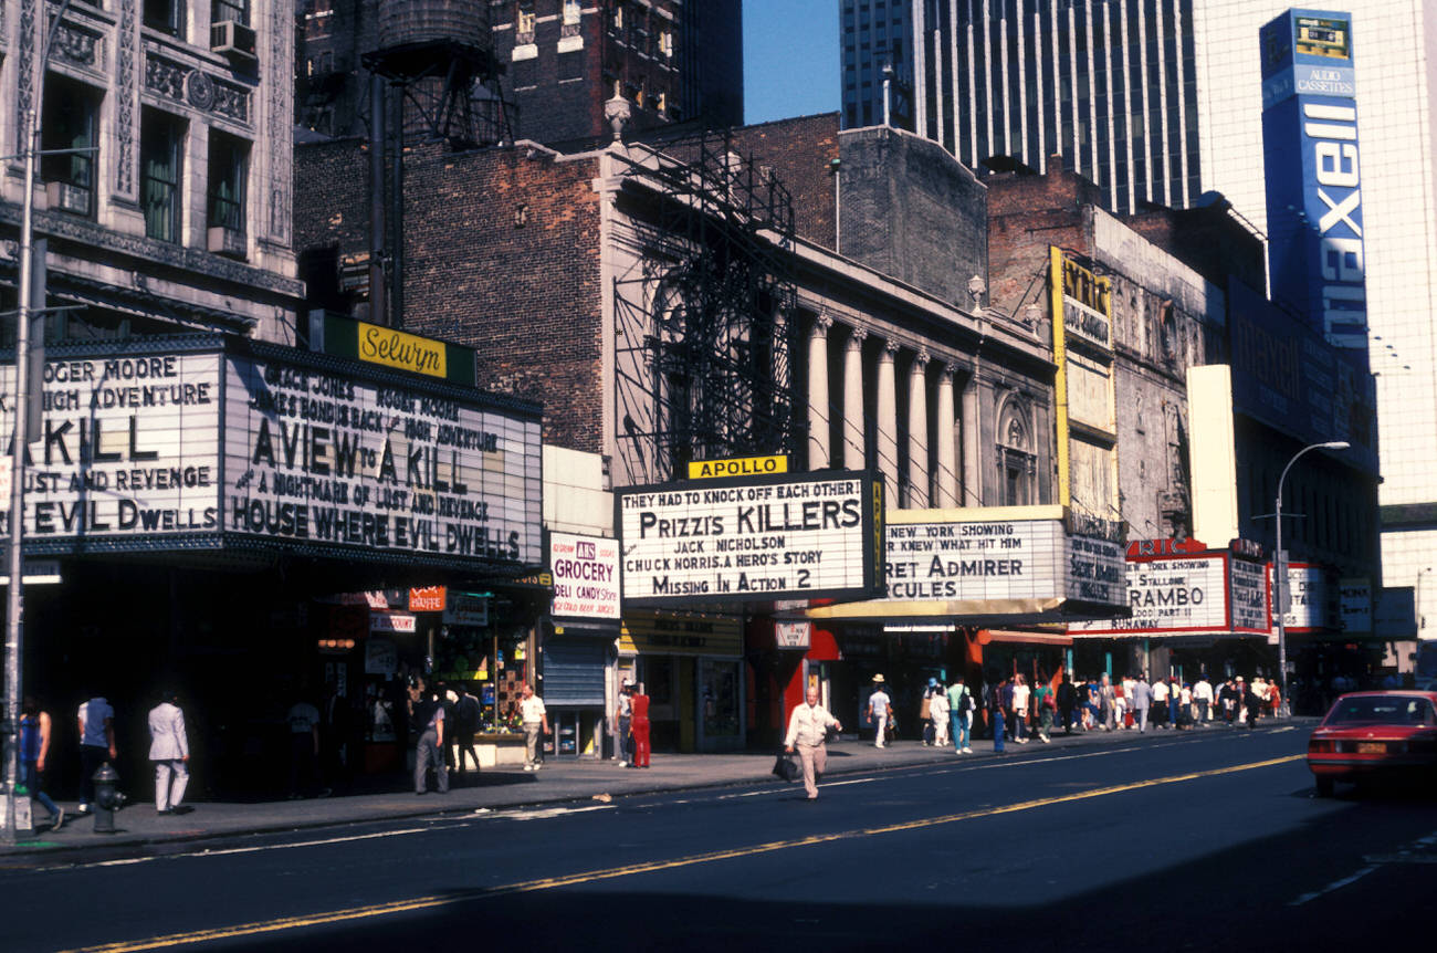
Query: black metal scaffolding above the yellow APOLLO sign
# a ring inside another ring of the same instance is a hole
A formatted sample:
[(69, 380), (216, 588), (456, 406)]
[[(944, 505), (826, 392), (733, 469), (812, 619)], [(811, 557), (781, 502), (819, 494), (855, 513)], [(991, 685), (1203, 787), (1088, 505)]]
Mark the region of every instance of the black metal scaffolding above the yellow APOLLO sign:
[(688, 460), (792, 451), (789, 191), (727, 132), (625, 161), (638, 266), (614, 282), (621, 471), (658, 483)]

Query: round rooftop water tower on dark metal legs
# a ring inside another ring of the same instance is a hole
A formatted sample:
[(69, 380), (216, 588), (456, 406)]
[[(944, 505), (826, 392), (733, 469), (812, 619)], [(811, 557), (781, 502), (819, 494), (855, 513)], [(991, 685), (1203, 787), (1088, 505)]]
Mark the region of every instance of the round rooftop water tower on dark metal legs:
[(454, 148), (512, 138), (489, 0), (379, 0), (378, 42), (365, 65), (402, 92), (407, 137)]

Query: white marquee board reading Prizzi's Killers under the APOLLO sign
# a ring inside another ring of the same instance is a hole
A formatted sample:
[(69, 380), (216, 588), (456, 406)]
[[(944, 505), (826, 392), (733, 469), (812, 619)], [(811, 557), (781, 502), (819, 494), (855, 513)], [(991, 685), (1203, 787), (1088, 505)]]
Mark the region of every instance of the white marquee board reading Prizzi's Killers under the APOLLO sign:
[(625, 604), (882, 592), (882, 484), (867, 471), (627, 487), (615, 523)]

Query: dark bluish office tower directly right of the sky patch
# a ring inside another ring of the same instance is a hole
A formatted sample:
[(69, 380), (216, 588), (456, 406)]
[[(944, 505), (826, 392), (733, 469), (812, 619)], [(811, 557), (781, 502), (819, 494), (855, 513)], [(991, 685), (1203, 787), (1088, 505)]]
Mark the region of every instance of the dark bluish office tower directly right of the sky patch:
[(891, 68), (890, 124), (912, 129), (911, 0), (842, 0), (844, 128), (884, 121), (885, 68)]

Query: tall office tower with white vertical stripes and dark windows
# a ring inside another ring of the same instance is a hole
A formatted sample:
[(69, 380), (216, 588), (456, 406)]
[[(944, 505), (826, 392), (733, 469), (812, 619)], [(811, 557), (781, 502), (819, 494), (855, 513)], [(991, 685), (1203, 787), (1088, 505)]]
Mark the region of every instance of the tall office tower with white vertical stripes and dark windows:
[(1193, 0), (914, 0), (911, 16), (920, 135), (974, 170), (1062, 157), (1119, 214), (1197, 201)]

